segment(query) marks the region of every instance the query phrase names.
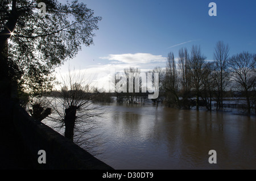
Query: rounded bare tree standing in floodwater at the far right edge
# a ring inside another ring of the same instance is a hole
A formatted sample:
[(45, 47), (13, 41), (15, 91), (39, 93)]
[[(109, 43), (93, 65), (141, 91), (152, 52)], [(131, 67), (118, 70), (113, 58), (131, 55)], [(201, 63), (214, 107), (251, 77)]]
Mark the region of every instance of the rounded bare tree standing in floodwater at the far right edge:
[(242, 52), (232, 56), (229, 60), (232, 80), (245, 93), (247, 112), (251, 113), (250, 91), (256, 82), (256, 58), (249, 52)]

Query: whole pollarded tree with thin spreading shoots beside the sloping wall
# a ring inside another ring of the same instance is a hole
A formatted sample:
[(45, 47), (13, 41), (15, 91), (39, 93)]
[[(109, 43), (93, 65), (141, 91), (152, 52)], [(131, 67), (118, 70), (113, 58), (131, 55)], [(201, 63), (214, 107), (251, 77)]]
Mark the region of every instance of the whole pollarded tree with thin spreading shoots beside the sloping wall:
[(84, 74), (69, 73), (62, 76), (61, 90), (56, 96), (52, 107), (56, 117), (51, 120), (57, 123), (56, 127), (64, 127), (64, 136), (86, 149), (92, 149), (96, 142), (93, 141), (99, 134), (90, 135), (97, 125), (96, 117), (103, 112), (99, 106), (93, 104), (93, 92), (85, 82)]

